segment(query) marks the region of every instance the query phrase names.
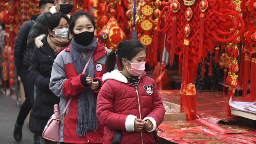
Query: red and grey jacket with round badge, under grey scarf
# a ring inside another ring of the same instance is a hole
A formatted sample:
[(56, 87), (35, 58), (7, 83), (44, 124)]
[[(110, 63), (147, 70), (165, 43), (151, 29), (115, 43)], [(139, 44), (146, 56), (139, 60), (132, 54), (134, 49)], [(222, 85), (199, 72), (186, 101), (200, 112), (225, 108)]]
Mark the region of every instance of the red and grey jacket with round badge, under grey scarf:
[[(93, 53), (93, 61), (95, 68), (95, 79), (100, 81), (100, 87), (103, 85), (102, 75), (105, 73), (105, 61), (107, 52), (110, 50), (97, 43), (97, 48)], [(80, 137), (76, 133), (77, 125), (77, 100), (78, 94), (85, 90), (81, 83), (81, 76), (85, 74), (77, 74), (70, 54), (70, 45), (58, 53), (53, 63), (50, 79), (51, 91), (61, 98), (60, 114), (64, 110), (68, 98), (73, 97), (64, 118), (61, 119), (60, 139), (59, 142), (65, 143), (102, 143), (104, 126), (98, 122), (98, 129), (87, 131), (85, 137)], [(100, 90), (100, 89), (99, 89)], [(98, 91), (92, 90), (94, 93)]]

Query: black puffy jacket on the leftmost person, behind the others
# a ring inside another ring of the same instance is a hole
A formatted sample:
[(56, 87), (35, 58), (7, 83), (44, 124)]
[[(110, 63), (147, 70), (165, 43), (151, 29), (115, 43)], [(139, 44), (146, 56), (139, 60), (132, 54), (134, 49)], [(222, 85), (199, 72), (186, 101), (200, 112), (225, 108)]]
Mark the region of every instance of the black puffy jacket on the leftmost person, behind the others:
[(19, 69), (29, 69), (30, 58), (33, 53), (33, 49), (27, 46), (27, 37), (29, 36), (29, 31), (34, 24), (34, 20), (38, 15), (33, 15), (29, 21), (26, 21), (19, 28), (18, 35), (14, 42), (14, 59), (15, 66)]

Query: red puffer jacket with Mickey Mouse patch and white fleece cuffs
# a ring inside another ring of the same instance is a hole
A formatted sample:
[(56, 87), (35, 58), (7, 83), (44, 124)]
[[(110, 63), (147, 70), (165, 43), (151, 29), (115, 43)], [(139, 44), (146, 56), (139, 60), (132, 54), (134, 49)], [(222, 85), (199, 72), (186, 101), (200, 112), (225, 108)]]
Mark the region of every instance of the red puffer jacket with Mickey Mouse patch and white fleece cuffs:
[[(135, 87), (118, 70), (104, 74), (102, 80), (105, 83), (98, 94), (96, 114), (106, 126), (103, 143), (157, 143), (154, 132), (163, 121), (165, 108), (155, 81), (144, 71)], [(134, 131), (136, 118), (149, 119), (153, 129)]]

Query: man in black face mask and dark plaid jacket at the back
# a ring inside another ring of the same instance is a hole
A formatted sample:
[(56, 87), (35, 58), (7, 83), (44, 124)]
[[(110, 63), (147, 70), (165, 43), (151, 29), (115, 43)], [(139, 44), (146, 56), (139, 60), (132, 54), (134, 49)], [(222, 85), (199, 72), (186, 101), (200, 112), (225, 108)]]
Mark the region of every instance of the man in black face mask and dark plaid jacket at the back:
[(47, 19), (50, 17), (50, 15), (60, 12), (70, 17), (69, 13), (73, 9), (73, 0), (54, 0), (54, 5), (55, 6), (51, 7), (49, 12), (39, 15), (32, 26), (27, 39), (27, 45), (31, 49), (34, 49), (35, 47), (35, 38), (43, 34)]

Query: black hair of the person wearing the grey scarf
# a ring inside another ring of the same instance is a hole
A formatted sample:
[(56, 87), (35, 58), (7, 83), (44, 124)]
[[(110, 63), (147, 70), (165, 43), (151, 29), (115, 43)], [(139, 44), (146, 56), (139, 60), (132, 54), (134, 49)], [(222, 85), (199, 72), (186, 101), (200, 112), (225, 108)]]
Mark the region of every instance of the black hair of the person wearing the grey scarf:
[[(77, 11), (76, 13), (74, 13), (73, 15), (71, 15), (70, 19), (69, 19), (69, 33), (70, 34), (74, 34), (74, 26), (75, 26), (75, 21), (80, 18), (80, 17), (87, 17), (88, 19), (90, 19), (91, 23), (93, 24), (94, 30), (96, 28), (96, 22), (93, 18), (93, 16), (85, 11)], [(68, 37), (69, 38), (69, 37)]]

